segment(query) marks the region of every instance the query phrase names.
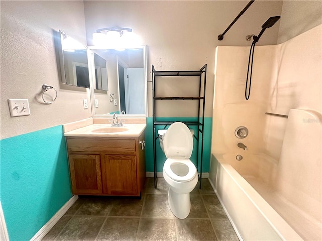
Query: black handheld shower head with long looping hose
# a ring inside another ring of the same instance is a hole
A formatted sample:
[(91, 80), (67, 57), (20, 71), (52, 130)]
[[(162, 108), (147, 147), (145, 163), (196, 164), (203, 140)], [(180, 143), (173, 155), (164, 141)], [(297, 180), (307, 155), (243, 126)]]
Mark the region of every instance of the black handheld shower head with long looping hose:
[[(246, 76), (246, 84), (245, 84), (245, 99), (246, 100), (248, 100), (250, 98), (250, 93), (251, 93), (251, 81), (252, 81), (253, 57), (254, 57), (255, 44), (258, 42), (258, 40), (262, 36), (262, 34), (264, 33), (265, 29), (272, 27), (280, 18), (281, 18), (281, 16), (270, 17), (262, 25), (261, 32), (257, 36), (256, 35), (253, 36), (253, 43), (251, 44), (250, 55), (248, 57), (248, 67), (247, 67), (247, 76)], [(249, 78), (250, 84), (249, 84), (249, 87), (247, 88), (248, 76), (249, 76), (249, 70), (250, 70), (251, 53), (252, 53), (252, 62), (251, 62), (251, 72), (250, 72), (250, 78)]]

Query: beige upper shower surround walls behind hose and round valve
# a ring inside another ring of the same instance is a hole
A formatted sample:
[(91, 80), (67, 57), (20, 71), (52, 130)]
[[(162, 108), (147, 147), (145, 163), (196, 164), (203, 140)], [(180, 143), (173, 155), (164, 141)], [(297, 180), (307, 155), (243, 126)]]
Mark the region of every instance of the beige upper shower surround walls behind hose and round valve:
[(244, 97), (249, 47), (217, 47), (212, 153), (239, 151), (233, 132), (246, 126), (249, 151), (279, 159), (287, 119), (265, 112), (322, 113), (321, 40), (319, 25), (285, 43), (256, 46), (249, 100)]

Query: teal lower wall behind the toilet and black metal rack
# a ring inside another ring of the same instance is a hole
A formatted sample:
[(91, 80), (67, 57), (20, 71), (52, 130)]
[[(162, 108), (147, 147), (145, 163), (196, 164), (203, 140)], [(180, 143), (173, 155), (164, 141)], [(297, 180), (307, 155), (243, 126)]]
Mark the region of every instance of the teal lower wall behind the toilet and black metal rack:
[[(157, 118), (158, 121), (196, 121), (195, 118)], [(211, 154), (211, 133), (212, 133), (212, 118), (205, 118), (204, 119), (204, 143), (203, 143), (203, 164), (202, 164), (202, 172), (209, 172), (210, 168), (210, 154)], [(158, 129), (163, 129), (164, 126), (157, 126)], [(167, 127), (168, 128), (168, 127)], [(191, 126), (190, 129), (195, 130), (195, 134), (197, 133), (197, 127)], [(145, 129), (145, 156), (146, 156), (146, 171), (153, 172), (154, 171), (154, 163), (153, 163), (153, 118), (148, 117), (146, 119), (146, 129)], [(196, 164), (197, 160), (197, 141), (194, 138), (194, 149), (191, 155), (190, 160)], [(201, 150), (201, 145), (199, 145), (199, 150)], [(162, 172), (163, 164), (166, 161), (166, 156), (162, 152), (159, 144), (159, 140), (157, 139), (156, 142), (156, 160), (157, 160), (157, 172)], [(201, 151), (199, 151), (201, 154)], [(199, 159), (200, 160), (200, 159)], [(200, 170), (200, 163), (198, 170)]]

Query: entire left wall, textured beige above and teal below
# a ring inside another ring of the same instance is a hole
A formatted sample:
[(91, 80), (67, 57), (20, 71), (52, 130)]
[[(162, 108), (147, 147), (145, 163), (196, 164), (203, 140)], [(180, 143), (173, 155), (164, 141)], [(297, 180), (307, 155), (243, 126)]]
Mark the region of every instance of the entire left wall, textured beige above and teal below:
[[(1, 204), (10, 240), (30, 240), (71, 198), (61, 124), (91, 116), (84, 88), (60, 84), (53, 32), (85, 41), (83, 1), (1, 1)], [(42, 103), (43, 84), (58, 97)], [(29, 100), (10, 117), (8, 98)]]

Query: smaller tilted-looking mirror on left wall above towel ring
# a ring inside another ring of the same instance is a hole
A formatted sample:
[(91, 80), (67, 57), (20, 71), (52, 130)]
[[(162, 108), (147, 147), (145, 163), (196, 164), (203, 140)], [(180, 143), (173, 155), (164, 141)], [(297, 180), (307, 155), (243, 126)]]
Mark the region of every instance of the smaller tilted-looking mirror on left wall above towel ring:
[(60, 70), (63, 84), (90, 88), (86, 47), (60, 32)]

